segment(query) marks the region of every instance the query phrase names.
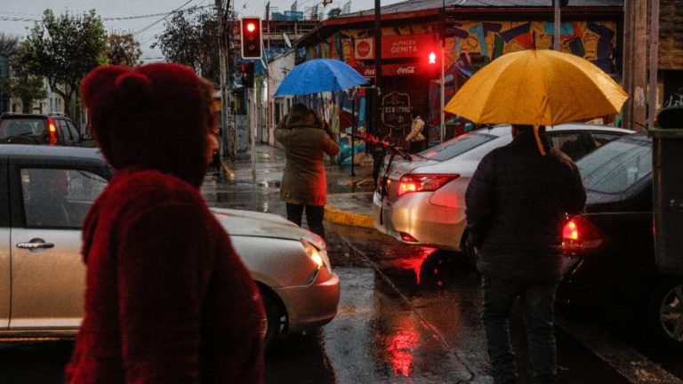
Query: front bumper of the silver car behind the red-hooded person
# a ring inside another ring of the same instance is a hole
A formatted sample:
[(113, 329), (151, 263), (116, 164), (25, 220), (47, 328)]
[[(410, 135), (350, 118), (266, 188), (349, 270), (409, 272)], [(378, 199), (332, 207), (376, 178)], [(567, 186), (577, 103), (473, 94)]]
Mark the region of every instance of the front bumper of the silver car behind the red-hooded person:
[(302, 332), (329, 323), (339, 307), (339, 276), (321, 270), (313, 283), (273, 288), (285, 303), (288, 332)]

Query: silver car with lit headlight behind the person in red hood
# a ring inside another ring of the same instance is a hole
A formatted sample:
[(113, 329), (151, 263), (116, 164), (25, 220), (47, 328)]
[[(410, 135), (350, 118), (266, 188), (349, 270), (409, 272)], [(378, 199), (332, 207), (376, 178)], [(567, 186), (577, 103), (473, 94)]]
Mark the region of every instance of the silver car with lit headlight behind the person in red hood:
[[(81, 225), (111, 176), (96, 148), (0, 146), (0, 338), (76, 333)], [(319, 236), (275, 214), (212, 211), (261, 289), (267, 343), (333, 319), (339, 277)]]

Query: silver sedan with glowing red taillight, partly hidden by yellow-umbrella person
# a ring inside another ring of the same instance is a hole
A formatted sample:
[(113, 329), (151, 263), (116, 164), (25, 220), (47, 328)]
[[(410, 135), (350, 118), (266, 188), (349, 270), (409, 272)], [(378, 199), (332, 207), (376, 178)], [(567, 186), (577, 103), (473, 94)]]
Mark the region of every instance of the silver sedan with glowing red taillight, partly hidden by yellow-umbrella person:
[[(631, 132), (589, 124), (547, 128), (550, 146), (573, 159)], [(510, 125), (496, 125), (448, 140), (411, 160), (385, 160), (385, 180), (374, 194), (374, 228), (407, 244), (462, 252), (474, 264), (465, 231), (465, 191), (481, 158), (511, 140)]]

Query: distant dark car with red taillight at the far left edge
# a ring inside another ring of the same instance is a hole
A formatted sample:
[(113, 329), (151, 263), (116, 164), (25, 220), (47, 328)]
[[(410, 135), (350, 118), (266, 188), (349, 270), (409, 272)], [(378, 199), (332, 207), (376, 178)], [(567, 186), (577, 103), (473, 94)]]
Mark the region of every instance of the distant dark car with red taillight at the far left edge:
[(0, 116), (0, 143), (75, 146), (84, 137), (64, 114), (15, 114)]

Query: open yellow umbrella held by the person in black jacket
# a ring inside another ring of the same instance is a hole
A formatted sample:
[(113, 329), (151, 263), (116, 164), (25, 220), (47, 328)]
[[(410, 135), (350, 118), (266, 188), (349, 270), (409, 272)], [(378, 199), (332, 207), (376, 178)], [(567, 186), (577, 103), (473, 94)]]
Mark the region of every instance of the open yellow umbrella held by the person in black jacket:
[[(507, 53), (481, 68), (444, 110), (478, 124), (557, 125), (613, 115), (628, 95), (591, 61), (569, 53)], [(542, 147), (539, 149), (542, 153)]]

